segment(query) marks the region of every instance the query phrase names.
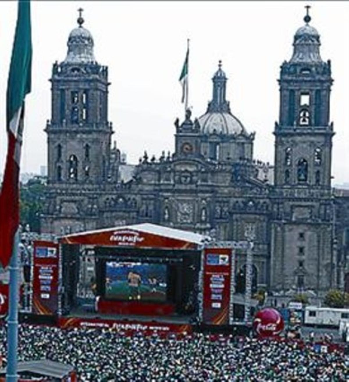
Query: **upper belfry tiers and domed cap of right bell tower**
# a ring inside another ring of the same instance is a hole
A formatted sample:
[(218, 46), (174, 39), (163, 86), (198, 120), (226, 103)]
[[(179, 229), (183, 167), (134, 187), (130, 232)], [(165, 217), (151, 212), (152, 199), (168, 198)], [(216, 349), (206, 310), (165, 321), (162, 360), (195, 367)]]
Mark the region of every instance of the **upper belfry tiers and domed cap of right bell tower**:
[(320, 36), (309, 25), (294, 36), (294, 51), (281, 65), (280, 115), (275, 127), (275, 185), (330, 189), (333, 125), (331, 62), (320, 57)]

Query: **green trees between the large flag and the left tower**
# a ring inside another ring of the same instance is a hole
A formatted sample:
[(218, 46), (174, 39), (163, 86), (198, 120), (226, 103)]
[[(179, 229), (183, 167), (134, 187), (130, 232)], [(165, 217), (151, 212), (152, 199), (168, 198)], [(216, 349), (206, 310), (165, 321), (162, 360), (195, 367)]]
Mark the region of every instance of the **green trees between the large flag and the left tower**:
[(21, 184), (19, 194), (20, 223), (29, 224), (31, 231), (40, 232), (40, 214), (44, 202), (45, 184), (38, 176)]

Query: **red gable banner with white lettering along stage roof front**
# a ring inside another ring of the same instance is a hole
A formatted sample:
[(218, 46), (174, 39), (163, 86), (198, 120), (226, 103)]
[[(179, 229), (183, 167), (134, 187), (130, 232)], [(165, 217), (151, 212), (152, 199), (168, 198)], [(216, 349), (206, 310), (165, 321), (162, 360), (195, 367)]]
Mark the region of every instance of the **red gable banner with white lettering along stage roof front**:
[(160, 233), (156, 235), (154, 233), (125, 228), (63, 236), (60, 242), (64, 244), (92, 244), (136, 248), (196, 249), (197, 247), (195, 243), (161, 236)]

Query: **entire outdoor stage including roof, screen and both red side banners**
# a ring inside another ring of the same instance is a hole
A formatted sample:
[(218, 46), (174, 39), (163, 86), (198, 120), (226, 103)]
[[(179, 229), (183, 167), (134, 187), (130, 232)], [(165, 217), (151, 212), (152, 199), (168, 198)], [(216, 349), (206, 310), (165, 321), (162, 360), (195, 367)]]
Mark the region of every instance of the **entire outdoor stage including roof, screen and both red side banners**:
[(148, 223), (37, 241), (32, 314), (64, 328), (241, 327), (235, 308), (247, 300), (235, 293), (234, 249), (208, 241)]

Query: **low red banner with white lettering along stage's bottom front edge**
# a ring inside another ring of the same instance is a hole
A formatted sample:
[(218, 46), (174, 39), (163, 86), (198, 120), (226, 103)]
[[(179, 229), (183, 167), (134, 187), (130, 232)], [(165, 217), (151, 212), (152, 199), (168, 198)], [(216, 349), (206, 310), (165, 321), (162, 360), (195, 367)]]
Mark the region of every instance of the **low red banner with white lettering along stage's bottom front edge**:
[(58, 326), (62, 329), (68, 328), (104, 328), (121, 330), (127, 333), (191, 333), (190, 324), (172, 324), (164, 322), (123, 321), (104, 319), (84, 319), (80, 317), (59, 317)]

